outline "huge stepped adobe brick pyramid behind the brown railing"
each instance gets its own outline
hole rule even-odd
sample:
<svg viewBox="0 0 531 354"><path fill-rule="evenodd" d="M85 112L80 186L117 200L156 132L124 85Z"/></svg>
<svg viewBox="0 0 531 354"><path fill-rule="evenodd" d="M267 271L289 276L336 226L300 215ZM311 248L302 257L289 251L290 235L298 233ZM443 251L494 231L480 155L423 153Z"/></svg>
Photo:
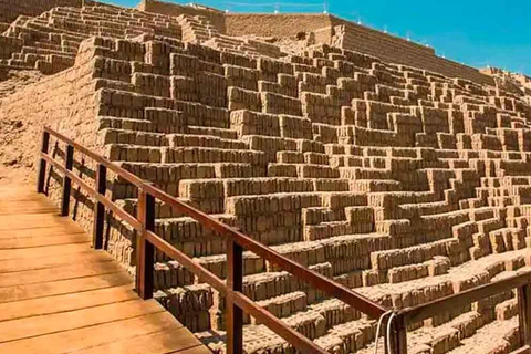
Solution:
<svg viewBox="0 0 531 354"><path fill-rule="evenodd" d="M51 125L396 309L531 267L529 77L480 72L327 14L56 6L0 1L20 14L0 37L0 122L22 126L9 131L20 158L0 154L3 164L30 174ZM94 166L79 160L93 183ZM60 184L52 176L52 195ZM135 188L114 178L111 194L136 212ZM90 230L93 201L74 196ZM165 206L156 212L158 235L226 277L220 237ZM135 235L107 221L107 250L134 271ZM156 262L157 298L222 352L223 299L163 254ZM375 320L249 252L244 273L250 299L331 353L373 353ZM410 324L409 353L509 353L517 312L506 291ZM294 353L246 321L248 353Z"/></svg>

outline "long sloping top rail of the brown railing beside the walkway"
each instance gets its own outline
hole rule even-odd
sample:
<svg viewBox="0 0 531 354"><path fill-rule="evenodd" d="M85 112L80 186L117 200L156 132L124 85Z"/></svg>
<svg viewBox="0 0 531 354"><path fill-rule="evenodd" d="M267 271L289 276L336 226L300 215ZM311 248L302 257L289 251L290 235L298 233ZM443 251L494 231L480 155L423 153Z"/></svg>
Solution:
<svg viewBox="0 0 531 354"><path fill-rule="evenodd" d="M221 236L231 238L235 242L240 244L241 247L246 248L247 250L269 260L272 263L280 266L284 271L288 271L303 281L309 282L310 284L314 285L315 288L325 291L327 294L337 298L348 305L353 306L355 310L362 311L363 313L369 315L371 317L378 319L382 314L384 314L387 309L364 295L352 291L351 289L341 285L326 277L309 270L295 261L273 251L272 249L268 248L267 246L251 239L250 237L238 232L230 227L226 226L225 223L211 218L210 216L206 215L205 212L190 207L174 196L166 194L165 191L156 188L155 186L144 181L143 179L136 177L135 175L126 171L122 167L111 163L110 160L105 159L104 157L94 154L93 152L88 150L87 148L83 147L82 145L73 142L72 139L65 137L64 135L54 132L50 127L44 127L44 131L50 133L51 135L55 136L56 138L67 143L69 145L73 146L75 149L79 149L86 156L93 158L97 163L106 166L108 169L115 171L121 177L127 179L128 181L133 183L135 186L148 192L154 198L159 199L163 202L166 202L173 208L188 215L190 218L195 219L196 221L202 223L205 227L220 233ZM158 236L157 236L158 237ZM159 238L159 237L158 237Z"/></svg>

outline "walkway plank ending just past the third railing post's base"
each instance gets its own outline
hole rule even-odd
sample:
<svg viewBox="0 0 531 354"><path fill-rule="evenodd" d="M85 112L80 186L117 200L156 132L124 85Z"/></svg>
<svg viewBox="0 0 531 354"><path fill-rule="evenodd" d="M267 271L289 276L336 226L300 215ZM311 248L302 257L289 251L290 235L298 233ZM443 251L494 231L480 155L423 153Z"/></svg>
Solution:
<svg viewBox="0 0 531 354"><path fill-rule="evenodd" d="M72 263L110 262L113 258L104 251L88 250L86 252L62 256L35 257L32 259L0 260L0 273L20 272L32 269L53 268Z"/></svg>

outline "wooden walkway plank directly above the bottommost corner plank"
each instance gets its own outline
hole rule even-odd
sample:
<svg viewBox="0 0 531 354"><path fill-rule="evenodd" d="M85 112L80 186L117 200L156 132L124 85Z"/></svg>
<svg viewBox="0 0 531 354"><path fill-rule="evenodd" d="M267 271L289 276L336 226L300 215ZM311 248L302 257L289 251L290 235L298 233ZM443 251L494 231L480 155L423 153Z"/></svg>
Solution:
<svg viewBox="0 0 531 354"><path fill-rule="evenodd" d="M175 326L180 326L177 320L167 312L160 312L142 317L2 343L0 344L0 353L71 353L138 335L163 332Z"/></svg>

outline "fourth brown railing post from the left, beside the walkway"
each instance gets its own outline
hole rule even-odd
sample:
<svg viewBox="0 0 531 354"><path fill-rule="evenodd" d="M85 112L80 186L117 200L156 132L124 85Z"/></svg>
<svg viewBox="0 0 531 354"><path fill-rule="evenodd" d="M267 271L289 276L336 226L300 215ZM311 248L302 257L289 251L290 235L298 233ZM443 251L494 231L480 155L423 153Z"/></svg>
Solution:
<svg viewBox="0 0 531 354"><path fill-rule="evenodd" d="M138 190L138 220L143 230L136 237L136 291L147 300L153 298L155 249L146 240L144 231L155 231L155 198L142 188Z"/></svg>

